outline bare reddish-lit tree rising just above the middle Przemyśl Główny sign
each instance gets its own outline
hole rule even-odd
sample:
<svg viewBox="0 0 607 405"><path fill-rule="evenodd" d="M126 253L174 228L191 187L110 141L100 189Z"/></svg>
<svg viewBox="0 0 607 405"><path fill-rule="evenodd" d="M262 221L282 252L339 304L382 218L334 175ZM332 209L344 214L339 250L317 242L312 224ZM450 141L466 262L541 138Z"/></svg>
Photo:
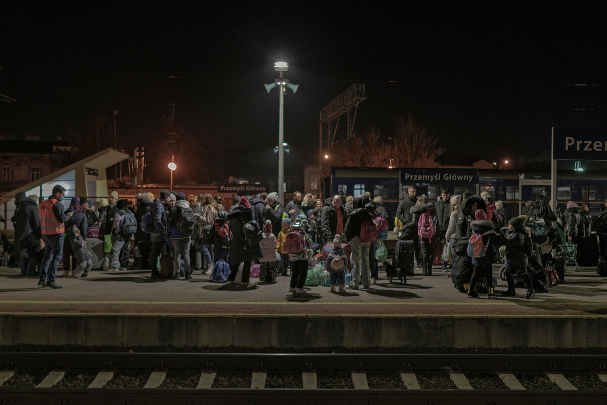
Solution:
<svg viewBox="0 0 607 405"><path fill-rule="evenodd" d="M394 165L401 168L433 168L438 166L436 158L443 153L438 138L430 134L425 126L417 123L409 114L396 118L394 124Z"/></svg>

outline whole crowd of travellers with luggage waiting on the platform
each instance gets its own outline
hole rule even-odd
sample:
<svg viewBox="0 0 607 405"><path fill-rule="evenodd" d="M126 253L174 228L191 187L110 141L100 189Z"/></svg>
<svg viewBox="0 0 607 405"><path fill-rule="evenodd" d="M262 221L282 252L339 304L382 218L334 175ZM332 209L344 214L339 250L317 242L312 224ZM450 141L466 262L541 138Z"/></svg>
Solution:
<svg viewBox="0 0 607 405"><path fill-rule="evenodd" d="M369 192L356 198L348 196L345 201L340 195L323 201L296 191L284 207L276 192L264 192L236 196L225 208L220 196L186 196L167 190L158 196L137 194L135 205L129 206L114 191L101 200L98 210L92 201L78 197L64 209L64 194L65 189L57 185L39 206L37 196L16 196L14 251L21 274L38 274L41 287L61 288L56 271L62 259L64 277L87 276L93 256L87 238L103 240L104 256L100 259L103 269L112 272L127 269L134 239L132 266L151 268L152 279L187 280L195 271L209 274L218 263L225 263L229 265L228 283L246 285L251 267L259 264L262 281L274 282L277 276L290 272L290 291L305 293L308 263L327 245L331 291L369 288L379 278L379 243L365 235L365 223L375 217L388 219L388 213L381 197L371 200ZM396 210L395 231L402 239L413 241L413 260L423 276L432 276L435 256L441 257L444 272L460 274L463 268L472 269L469 282L454 282L470 298L478 296L474 286L481 279L487 285L487 298L495 297L492 265L499 248L505 247L508 288L502 295L515 295L513 275L517 274L527 287L526 298L533 298L534 287L527 274L534 249L526 227L530 219L543 221L549 240L554 240L552 223L557 216L545 196L526 203L524 215L509 218L503 203L493 202L486 192L451 196L449 189L443 188L438 200L430 202L426 196L417 196L415 186L409 186ZM569 202L564 214L566 237L575 240L579 233L589 232L584 224L590 220L588 206ZM598 223L603 257L607 250L607 200ZM469 245L476 239L482 253L470 254ZM345 248L351 252L346 254ZM348 268L352 274L346 285Z"/></svg>

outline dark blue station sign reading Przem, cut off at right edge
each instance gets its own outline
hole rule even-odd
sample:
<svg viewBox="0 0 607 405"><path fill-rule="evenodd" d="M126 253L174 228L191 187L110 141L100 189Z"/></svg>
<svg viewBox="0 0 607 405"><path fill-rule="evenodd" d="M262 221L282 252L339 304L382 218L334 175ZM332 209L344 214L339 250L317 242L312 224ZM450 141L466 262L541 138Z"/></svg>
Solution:
<svg viewBox="0 0 607 405"><path fill-rule="evenodd" d="M607 130L554 128L553 148L557 160L607 160Z"/></svg>

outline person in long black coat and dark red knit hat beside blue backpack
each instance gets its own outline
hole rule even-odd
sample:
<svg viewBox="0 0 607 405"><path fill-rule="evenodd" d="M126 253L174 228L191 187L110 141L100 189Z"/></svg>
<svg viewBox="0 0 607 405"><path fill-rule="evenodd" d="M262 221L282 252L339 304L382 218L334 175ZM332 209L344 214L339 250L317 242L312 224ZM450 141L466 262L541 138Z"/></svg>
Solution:
<svg viewBox="0 0 607 405"><path fill-rule="evenodd" d="M232 231L229 245L229 284L234 284L242 263L242 285L246 287L249 284L251 262L261 257L259 243L249 246L245 238L244 226L250 220L253 220L253 209L246 197L240 197L239 205L228 214L229 229Z"/></svg>

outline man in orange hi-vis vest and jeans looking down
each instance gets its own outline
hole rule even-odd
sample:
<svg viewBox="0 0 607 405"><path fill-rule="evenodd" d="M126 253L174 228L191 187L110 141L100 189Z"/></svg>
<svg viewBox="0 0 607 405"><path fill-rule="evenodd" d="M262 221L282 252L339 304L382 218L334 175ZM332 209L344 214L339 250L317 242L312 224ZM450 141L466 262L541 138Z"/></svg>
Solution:
<svg viewBox="0 0 607 405"><path fill-rule="evenodd" d="M66 189L63 186L56 185L50 198L38 206L42 240L44 240L44 259L38 281L40 287L61 288L61 285L55 282L55 275L63 253L65 223L73 215L71 212L65 213L61 204L65 193Z"/></svg>

